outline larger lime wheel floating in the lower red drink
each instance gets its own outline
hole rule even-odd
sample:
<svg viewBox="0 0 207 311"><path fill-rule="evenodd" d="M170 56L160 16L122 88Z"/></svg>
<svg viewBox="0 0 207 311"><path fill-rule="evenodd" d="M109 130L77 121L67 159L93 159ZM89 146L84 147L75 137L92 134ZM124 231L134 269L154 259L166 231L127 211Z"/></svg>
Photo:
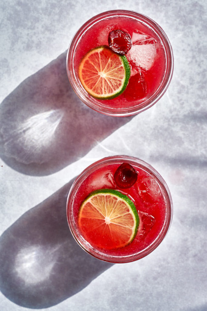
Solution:
<svg viewBox="0 0 207 311"><path fill-rule="evenodd" d="M83 201L78 223L83 238L92 246L121 248L133 241L139 216L128 196L117 190L99 189Z"/></svg>

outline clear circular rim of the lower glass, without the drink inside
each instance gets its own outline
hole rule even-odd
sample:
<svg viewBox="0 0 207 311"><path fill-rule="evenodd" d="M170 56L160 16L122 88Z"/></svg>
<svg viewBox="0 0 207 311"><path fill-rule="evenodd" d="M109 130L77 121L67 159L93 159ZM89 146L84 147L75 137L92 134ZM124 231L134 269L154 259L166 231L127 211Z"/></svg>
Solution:
<svg viewBox="0 0 207 311"><path fill-rule="evenodd" d="M75 225L74 225L74 221L73 221L73 213L70 213L70 205L72 206L72 204L71 204L72 196L77 191L77 189L79 187L79 183L82 182L83 178L85 179L89 174L91 174L93 171L95 171L98 167L104 166L104 165L106 165L106 163L109 163L109 162L110 163L117 162L118 160L123 160L123 161L127 160L127 161L129 161L129 163L132 163L132 164L134 162L136 165L138 164L141 168L143 168L145 170L147 169L151 174L153 174L159 180L159 183L162 185L162 187L165 191L165 197L166 197L166 201L167 201L166 220L165 220L164 226L163 226L162 230L160 231L160 233L158 234L157 238L155 240L153 240L153 242L150 245L148 245L146 248L144 248L143 250L141 250L135 254L125 255L125 256L107 255L107 254L101 253L100 251L96 250L92 246L89 247L88 245L90 245L90 244L86 240L84 240L83 237L81 237L81 234L78 233L78 230L75 229ZM67 204L66 204L66 215L67 215L67 222L68 222L68 226L70 228L70 232L73 235L75 241L79 244L79 246L84 251L86 251L87 253L89 253L93 257L101 259L101 260L106 261L106 262L127 263L127 262L133 262L133 261L139 260L139 259L147 256L155 248L157 248L160 245L160 243L162 242L162 240L165 238L166 234L168 233L170 226L171 226L171 223L172 223L173 202L172 202L172 197L171 197L169 188L168 188L166 182L164 181L163 177L149 163L147 163L141 159L138 159L136 157L132 157L132 156L124 156L124 155L108 156L108 157L102 158L102 159L92 163L91 165L89 165L75 179L75 181L72 184L70 191L68 193Z"/></svg>

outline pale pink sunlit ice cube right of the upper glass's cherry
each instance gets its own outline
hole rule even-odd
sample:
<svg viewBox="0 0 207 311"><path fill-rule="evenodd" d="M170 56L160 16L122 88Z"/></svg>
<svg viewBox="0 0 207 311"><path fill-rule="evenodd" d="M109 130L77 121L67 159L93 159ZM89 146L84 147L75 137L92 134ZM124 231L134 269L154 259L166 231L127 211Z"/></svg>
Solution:
<svg viewBox="0 0 207 311"><path fill-rule="evenodd" d="M156 44L134 44L127 53L129 62L134 66L149 70L156 56Z"/></svg>

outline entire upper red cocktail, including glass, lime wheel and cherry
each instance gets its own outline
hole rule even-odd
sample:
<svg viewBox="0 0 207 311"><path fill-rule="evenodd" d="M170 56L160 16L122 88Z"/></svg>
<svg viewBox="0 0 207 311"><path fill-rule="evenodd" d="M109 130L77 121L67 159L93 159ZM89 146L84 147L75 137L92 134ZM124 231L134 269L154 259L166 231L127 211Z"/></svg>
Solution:
<svg viewBox="0 0 207 311"><path fill-rule="evenodd" d="M116 40L114 46L124 45L124 37L122 38L120 33L128 36L130 46L124 53L127 65L122 64L125 78L121 76L120 80L123 79L123 85L114 86L114 77L111 76L106 81L106 84L109 83L110 87L114 87L113 92L109 90L110 87L102 87L103 65L97 66L97 59L103 55L100 53L101 47L113 48L113 44L110 45L110 36ZM99 50L96 50L97 48ZM97 52L97 59L94 61L90 55L88 62L91 67L88 65L82 76L83 60L93 53L94 49ZM108 50L105 52L107 54ZM121 64L122 56L119 56L119 50L115 49L115 52ZM110 55L107 54L105 57L110 58ZM110 58L111 67L108 68L108 72L114 70L114 58L114 55ZM172 78L173 53L169 39L158 24L142 14L116 10L93 17L78 30L68 49L66 64L70 83L85 104L103 114L127 116L151 107L162 97ZM117 67L120 67L118 62ZM84 82L86 81L86 84L87 81L92 82L95 75L99 75L101 80L94 80L89 87L85 85ZM102 89L97 90L97 83L100 84L100 81ZM99 92L98 95L96 91Z"/></svg>

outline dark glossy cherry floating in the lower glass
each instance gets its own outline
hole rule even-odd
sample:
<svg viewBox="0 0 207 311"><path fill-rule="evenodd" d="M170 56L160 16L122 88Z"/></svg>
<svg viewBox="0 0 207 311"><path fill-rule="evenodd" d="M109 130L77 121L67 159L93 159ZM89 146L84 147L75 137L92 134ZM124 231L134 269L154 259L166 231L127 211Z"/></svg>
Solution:
<svg viewBox="0 0 207 311"><path fill-rule="evenodd" d="M115 183L119 188L130 188L137 181L137 172L128 163L122 163L114 174Z"/></svg>

